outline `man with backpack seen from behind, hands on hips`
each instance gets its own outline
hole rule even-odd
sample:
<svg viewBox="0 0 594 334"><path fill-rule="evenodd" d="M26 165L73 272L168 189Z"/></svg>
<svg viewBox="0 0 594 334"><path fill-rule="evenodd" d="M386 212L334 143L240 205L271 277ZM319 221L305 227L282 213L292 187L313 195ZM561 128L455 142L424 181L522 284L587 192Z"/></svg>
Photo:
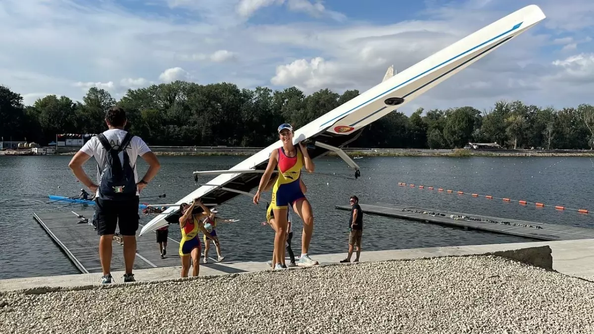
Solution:
<svg viewBox="0 0 594 334"><path fill-rule="evenodd" d="M136 256L136 231L138 230L138 198L140 191L154 178L160 169L159 160L140 138L124 130L127 123L124 109L114 106L105 115L109 130L92 137L72 157L68 164L75 177L96 193L97 234L99 259L103 269L102 283L111 283L112 240L116 225L124 238L124 282L134 282L134 259ZM97 163L95 184L83 170L91 157ZM149 170L138 179L136 160L141 156Z"/></svg>

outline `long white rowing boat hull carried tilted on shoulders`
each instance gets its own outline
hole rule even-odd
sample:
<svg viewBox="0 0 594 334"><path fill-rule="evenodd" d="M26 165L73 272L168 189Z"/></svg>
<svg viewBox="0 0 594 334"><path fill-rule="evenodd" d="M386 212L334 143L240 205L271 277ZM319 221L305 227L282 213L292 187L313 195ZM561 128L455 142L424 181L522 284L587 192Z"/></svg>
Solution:
<svg viewBox="0 0 594 334"><path fill-rule="evenodd" d="M315 140L335 147L344 147L355 140L367 125L406 105L544 19L545 14L536 5L517 10L412 67L392 77L387 75L389 78L384 78L382 83L296 130L294 144ZM261 174L245 173L245 169L266 169L270 153L281 146L282 142L276 141L230 168L229 173L221 174L207 182L208 185L192 191L176 204L190 203L194 198L202 198L204 203L220 205L239 196L239 193L223 190L222 187L250 191L259 184ZM326 155L328 150L308 146L308 153L315 158ZM164 213L166 215L156 217L147 223L140 235L175 222L179 217L179 207L170 207Z"/></svg>

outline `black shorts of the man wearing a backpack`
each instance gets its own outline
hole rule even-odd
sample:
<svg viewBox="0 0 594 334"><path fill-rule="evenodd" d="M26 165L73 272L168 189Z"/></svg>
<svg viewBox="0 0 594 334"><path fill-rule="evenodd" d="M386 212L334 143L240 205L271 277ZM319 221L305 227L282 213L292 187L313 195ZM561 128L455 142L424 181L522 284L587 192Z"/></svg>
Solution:
<svg viewBox="0 0 594 334"><path fill-rule="evenodd" d="M115 227L118 225L119 234L136 235L140 221L138 196L119 201L97 198L95 202L97 203L97 234L115 234Z"/></svg>

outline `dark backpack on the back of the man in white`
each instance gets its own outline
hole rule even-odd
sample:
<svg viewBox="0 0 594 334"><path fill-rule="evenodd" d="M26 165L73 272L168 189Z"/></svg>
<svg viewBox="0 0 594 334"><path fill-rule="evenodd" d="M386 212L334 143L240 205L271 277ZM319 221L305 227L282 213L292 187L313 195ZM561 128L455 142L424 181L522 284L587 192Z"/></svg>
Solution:
<svg viewBox="0 0 594 334"><path fill-rule="evenodd" d="M130 164L130 157L126 147L134 137L127 133L122 143L113 148L103 134L97 139L107 151L103 171L99 168L99 196L108 200L128 200L136 196L136 179L134 177L134 166ZM124 156L124 165L119 160L119 153Z"/></svg>

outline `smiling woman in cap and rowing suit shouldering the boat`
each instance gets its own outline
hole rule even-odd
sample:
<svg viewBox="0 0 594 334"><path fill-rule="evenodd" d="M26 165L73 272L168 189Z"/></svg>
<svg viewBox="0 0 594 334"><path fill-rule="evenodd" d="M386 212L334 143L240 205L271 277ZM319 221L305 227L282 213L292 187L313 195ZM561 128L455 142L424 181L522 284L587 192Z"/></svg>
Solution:
<svg viewBox="0 0 594 334"><path fill-rule="evenodd" d="M299 147L293 144L293 127L290 124L281 124L279 126L279 138L283 146L270 153L268 159L268 166L266 171L260 179L258 191L254 195L254 204L260 201L261 192L268 184L270 176L277 166L279 170L279 177L274 182L272 188L272 206L274 214L274 254L284 254L285 248L285 234L287 231L287 212L289 205L293 206L293 210L303 220L303 233L301 237L301 257L299 258L298 266L313 266L318 264L317 261L312 260L307 254L311 235L314 230L314 215L311 209L311 204L299 187L301 179L301 169L305 166L308 172L314 172L314 162L307 153L307 147L299 143ZM277 256L278 258L278 256ZM280 259L281 263L277 263L274 269L282 269L285 263L285 257Z"/></svg>

